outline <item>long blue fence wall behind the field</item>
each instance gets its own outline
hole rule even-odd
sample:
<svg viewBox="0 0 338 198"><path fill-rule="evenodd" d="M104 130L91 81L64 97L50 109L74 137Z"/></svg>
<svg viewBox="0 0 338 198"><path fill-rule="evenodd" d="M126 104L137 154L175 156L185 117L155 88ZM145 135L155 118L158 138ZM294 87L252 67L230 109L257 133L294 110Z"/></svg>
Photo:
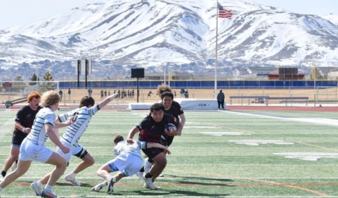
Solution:
<svg viewBox="0 0 338 198"><path fill-rule="evenodd" d="M164 81L139 80L140 88L156 89L158 85L163 84ZM172 80L170 87L172 88L213 88L214 81L207 80ZM167 82L168 84L168 82ZM60 88L77 88L78 81L60 81ZM217 81L218 88L232 89L232 88L250 88L253 87L269 87L276 89L297 87L303 89L313 89L314 87L337 87L338 81L272 81L272 80L219 80ZM87 88L133 88L137 87L137 80L112 80L112 81L87 81ZM85 82L80 81L80 88L85 88Z"/></svg>

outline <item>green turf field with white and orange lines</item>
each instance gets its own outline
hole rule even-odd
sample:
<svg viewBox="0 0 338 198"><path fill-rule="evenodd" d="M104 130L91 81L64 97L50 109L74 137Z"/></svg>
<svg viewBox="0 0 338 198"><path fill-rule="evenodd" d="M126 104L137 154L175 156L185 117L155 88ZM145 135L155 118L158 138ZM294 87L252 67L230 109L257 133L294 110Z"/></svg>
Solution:
<svg viewBox="0 0 338 198"><path fill-rule="evenodd" d="M0 111L1 167L9 153L15 114ZM155 182L161 190L146 190L143 181L133 176L116 183L112 195L106 194L107 188L90 192L103 181L96 170L113 157L112 137L126 137L146 114L98 112L81 138L95 165L78 174L81 187L60 179L53 191L67 198L338 198L337 112L185 111L187 122L182 136L175 137L170 146L165 177ZM50 140L47 147L53 147ZM78 162L73 157L66 173ZM36 197L29 184L52 169L33 163L23 177L2 191L1 198Z"/></svg>

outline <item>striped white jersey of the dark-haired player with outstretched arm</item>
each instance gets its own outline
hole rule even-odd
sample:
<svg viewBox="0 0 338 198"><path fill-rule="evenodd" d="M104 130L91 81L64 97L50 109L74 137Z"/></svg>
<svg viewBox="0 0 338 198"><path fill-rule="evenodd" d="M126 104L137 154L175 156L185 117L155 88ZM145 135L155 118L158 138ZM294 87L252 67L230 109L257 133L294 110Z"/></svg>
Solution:
<svg viewBox="0 0 338 198"><path fill-rule="evenodd" d="M70 144L75 148L78 146L81 136L84 134L91 117L98 111L98 104L88 108L83 106L75 110L69 111L65 114L59 115L60 122L66 122L68 117L74 116L72 125L66 128L65 133L62 135L63 141Z"/></svg>

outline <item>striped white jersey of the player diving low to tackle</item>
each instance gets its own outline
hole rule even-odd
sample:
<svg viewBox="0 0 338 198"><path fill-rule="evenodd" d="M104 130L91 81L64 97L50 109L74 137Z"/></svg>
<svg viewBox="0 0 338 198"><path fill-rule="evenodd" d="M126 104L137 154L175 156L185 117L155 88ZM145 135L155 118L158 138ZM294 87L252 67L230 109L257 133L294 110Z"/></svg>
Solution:
<svg viewBox="0 0 338 198"><path fill-rule="evenodd" d="M134 141L134 144L128 144L127 141L121 141L117 143L114 147L114 155L115 157L119 154L132 154L140 157L141 156L141 149L147 148L147 142L143 141Z"/></svg>

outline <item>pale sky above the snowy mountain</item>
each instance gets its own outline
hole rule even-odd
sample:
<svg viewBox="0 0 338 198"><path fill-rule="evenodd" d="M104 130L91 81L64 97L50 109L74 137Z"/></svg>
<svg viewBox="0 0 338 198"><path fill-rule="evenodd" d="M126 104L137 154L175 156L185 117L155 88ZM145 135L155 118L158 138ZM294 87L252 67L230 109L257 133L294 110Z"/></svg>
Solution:
<svg viewBox="0 0 338 198"><path fill-rule="evenodd" d="M26 25L100 0L0 0L0 29ZM226 0L219 0L219 2ZM300 14L338 14L338 0L252 0ZM46 3L48 2L48 3Z"/></svg>

